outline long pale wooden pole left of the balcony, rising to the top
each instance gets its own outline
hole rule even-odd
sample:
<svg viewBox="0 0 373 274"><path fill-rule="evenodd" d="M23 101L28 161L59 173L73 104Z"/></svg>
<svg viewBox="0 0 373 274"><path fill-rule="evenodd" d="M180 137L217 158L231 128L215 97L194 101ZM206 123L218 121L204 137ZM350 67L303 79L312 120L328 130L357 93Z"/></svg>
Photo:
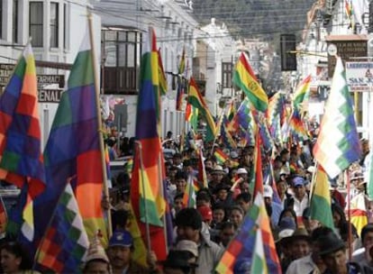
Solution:
<svg viewBox="0 0 373 274"><path fill-rule="evenodd" d="M96 93L96 113L97 113L97 126L98 126L98 140L100 144L100 152L101 152L101 165L103 170L103 182L104 182L104 193L105 197L109 199L109 189L107 186L107 174L106 174L106 162L105 162L105 146L104 146L104 136L103 136L103 122L101 118L101 108L100 108L100 87L98 86L98 79L97 79L97 67L96 67L96 52L95 52L95 42L94 42L94 32L93 32L93 25L92 25L92 14L88 12L88 27L89 27L89 41L91 44L91 52L92 52L92 64L94 69L94 83L95 83L95 93ZM110 238L113 234L112 232L112 215L110 212L110 207L106 210L107 216L107 235Z"/></svg>

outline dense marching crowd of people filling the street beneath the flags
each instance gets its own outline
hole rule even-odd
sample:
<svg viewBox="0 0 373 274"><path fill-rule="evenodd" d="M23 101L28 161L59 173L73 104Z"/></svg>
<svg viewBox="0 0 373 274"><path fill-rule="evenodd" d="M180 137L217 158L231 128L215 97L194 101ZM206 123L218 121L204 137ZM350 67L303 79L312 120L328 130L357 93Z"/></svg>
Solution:
<svg viewBox="0 0 373 274"><path fill-rule="evenodd" d="M198 172L198 152L186 149L179 153L177 142L163 144L176 151L172 158L166 159L165 187L174 226L174 241L167 260L157 260L153 251L142 254L146 257L146 265L133 258L134 239L128 229L132 214L129 205L131 174L123 171L110 192L114 233L106 250L98 236L91 242L82 265L84 273L212 273L224 250L240 232L253 202L250 172L254 165L254 147L229 151L221 144L205 144L208 186L197 185L196 205L187 207L184 195L189 176L196 176ZM365 174L368 141L361 140L361 147L361 160L350 168L350 196L346 194L343 177L330 182L334 229L310 215L310 188L315 169L312 143L279 149L272 158L276 184L266 183L263 197L283 273L373 273L373 223L369 223L370 201ZM216 150L224 151L228 158L219 162L214 157ZM117 151L123 155L123 151ZM264 153L263 170L268 167L269 160ZM274 201L275 195L279 203ZM349 221L346 214L349 200L352 203L356 196L366 203L368 224L355 225ZM28 273L25 269L32 268L27 254L16 242L5 242L0 254L5 273ZM250 273L250 260L237 261L233 270Z"/></svg>

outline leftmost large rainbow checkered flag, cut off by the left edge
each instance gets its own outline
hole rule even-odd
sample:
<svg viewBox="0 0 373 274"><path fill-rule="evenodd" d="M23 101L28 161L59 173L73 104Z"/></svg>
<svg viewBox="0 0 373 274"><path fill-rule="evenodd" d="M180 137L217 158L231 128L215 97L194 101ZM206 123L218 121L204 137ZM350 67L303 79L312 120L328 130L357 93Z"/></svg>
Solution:
<svg viewBox="0 0 373 274"><path fill-rule="evenodd" d="M0 97L0 179L21 188L24 195L14 209L14 217L10 218L8 233L22 234L27 241L32 241L33 200L44 191L46 178L41 155L36 68L30 43ZM20 228L22 233L18 233Z"/></svg>

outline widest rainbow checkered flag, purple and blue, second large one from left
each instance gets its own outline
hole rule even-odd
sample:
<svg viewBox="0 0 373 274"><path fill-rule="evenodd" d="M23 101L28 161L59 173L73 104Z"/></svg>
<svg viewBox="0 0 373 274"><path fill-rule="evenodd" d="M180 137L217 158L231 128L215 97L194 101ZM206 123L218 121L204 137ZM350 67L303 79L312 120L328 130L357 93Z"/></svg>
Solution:
<svg viewBox="0 0 373 274"><path fill-rule="evenodd" d="M59 197L71 178L74 178L71 187L74 188L86 233L93 237L100 230L103 244L107 241L101 207L106 178L97 123L101 118L97 112L99 102L96 101L94 61L86 27L86 34L68 77L68 88L59 101L44 151L47 186L41 196L33 200L35 238L29 247L32 258L37 244L45 238L50 220L59 205Z"/></svg>

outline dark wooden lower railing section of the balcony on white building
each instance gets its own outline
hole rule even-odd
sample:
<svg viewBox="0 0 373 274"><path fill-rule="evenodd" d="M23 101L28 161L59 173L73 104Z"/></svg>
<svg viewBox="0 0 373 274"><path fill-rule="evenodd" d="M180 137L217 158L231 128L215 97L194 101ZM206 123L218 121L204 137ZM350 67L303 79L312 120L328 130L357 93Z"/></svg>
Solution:
<svg viewBox="0 0 373 274"><path fill-rule="evenodd" d="M105 95L138 95L139 68L105 67L101 84Z"/></svg>

